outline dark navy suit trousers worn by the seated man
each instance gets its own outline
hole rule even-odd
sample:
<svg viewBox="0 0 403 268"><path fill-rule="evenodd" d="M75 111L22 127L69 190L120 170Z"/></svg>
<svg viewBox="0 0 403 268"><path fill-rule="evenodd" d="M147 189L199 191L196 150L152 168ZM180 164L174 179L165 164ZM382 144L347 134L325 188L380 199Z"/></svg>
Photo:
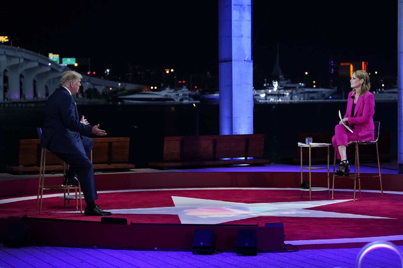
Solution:
<svg viewBox="0 0 403 268"><path fill-rule="evenodd" d="M54 153L61 160L70 165L69 172L76 174L81 184L81 190L83 190L85 203L98 199L94 169L89 160L91 149L93 147L92 139L83 137L81 140L84 145L85 154L71 154L71 153ZM69 173L68 172L68 173Z"/></svg>

